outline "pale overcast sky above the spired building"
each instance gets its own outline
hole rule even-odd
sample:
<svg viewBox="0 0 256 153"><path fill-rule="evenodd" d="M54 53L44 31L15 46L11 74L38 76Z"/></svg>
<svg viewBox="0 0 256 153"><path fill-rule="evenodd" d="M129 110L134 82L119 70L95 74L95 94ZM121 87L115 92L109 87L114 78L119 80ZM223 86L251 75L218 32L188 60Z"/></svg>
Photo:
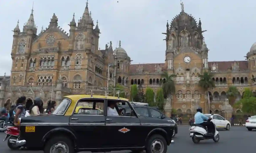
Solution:
<svg viewBox="0 0 256 153"><path fill-rule="evenodd" d="M34 1L34 19L38 26L48 27L56 14L61 28L69 33L69 22L75 13L82 16L86 0L0 0L0 75L10 75L13 32L29 19ZM118 2L117 2L118 1ZM166 21L181 12L180 0L89 0L89 11L101 30L99 47L121 40L132 63L163 63L165 59ZM209 61L238 61L256 41L256 1L183 0L184 12L201 18ZM45 28L44 28L45 29Z"/></svg>

